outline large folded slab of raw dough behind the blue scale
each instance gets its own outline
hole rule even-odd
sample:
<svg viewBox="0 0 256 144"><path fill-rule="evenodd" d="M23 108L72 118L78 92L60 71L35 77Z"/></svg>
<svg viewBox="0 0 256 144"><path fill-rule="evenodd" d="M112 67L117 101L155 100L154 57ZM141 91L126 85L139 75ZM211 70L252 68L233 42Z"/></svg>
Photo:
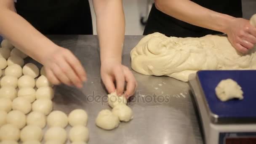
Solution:
<svg viewBox="0 0 256 144"><path fill-rule="evenodd" d="M187 82L198 70L256 69L255 48L238 53L226 36L166 37L153 33L131 51L131 67L144 75L167 75Z"/></svg>

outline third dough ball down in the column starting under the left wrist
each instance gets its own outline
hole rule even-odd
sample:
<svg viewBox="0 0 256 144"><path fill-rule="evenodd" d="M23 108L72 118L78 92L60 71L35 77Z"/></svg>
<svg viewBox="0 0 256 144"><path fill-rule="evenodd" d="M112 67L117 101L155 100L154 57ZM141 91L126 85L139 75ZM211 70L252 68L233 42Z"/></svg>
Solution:
<svg viewBox="0 0 256 144"><path fill-rule="evenodd" d="M34 88L20 88L18 91L18 97L23 97L29 102L35 101L35 89Z"/></svg>

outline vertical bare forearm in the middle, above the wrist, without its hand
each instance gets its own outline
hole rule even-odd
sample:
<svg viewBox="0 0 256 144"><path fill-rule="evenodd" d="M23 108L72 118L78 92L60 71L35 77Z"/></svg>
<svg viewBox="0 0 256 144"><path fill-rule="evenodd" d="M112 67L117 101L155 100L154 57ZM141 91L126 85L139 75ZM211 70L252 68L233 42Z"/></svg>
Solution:
<svg viewBox="0 0 256 144"><path fill-rule="evenodd" d="M94 0L96 4L97 0ZM122 61L125 19L122 0L104 0L95 5L101 62L107 59Z"/></svg>

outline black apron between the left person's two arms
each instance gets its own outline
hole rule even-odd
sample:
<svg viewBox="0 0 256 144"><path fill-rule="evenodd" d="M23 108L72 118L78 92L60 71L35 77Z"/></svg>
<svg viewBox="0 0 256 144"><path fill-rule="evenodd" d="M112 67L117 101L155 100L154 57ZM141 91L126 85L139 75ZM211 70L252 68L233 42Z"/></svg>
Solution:
<svg viewBox="0 0 256 144"><path fill-rule="evenodd" d="M17 0L16 11L44 35L92 35L88 0Z"/></svg>

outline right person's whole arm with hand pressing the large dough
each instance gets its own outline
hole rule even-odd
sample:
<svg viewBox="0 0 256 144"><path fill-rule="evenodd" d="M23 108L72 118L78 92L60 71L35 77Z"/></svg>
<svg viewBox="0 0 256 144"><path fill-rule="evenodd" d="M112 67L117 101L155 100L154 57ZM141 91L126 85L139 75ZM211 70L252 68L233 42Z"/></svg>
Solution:
<svg viewBox="0 0 256 144"><path fill-rule="evenodd" d="M176 19L226 33L232 45L247 52L256 43L256 28L248 20L204 8L190 0L155 0L156 8Z"/></svg>

